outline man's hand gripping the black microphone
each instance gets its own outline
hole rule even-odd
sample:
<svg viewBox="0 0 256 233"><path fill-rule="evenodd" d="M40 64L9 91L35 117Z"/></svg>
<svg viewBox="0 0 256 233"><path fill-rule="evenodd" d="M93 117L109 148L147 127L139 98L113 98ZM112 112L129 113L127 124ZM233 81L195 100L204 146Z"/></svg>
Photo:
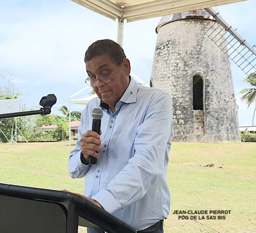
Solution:
<svg viewBox="0 0 256 233"><path fill-rule="evenodd" d="M101 134L101 132L100 132ZM101 151L100 145L101 141L99 139L99 135L97 132L92 130L88 130L80 139L82 153L84 155L84 159L86 163L89 163L89 156L92 155L93 157L99 157L98 152Z"/></svg>

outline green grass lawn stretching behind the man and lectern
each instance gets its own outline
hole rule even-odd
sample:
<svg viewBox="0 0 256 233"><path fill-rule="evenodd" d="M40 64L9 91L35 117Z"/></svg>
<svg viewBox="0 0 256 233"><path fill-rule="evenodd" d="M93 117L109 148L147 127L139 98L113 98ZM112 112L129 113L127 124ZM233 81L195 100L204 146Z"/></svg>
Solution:
<svg viewBox="0 0 256 233"><path fill-rule="evenodd" d="M0 183L83 193L84 179L68 174L73 147L74 142L0 144ZM256 232L255 142L173 142L167 180L172 204L165 233ZM179 219L182 214L173 214L175 210L208 214L184 214L189 219ZM230 214L209 214L210 210Z"/></svg>

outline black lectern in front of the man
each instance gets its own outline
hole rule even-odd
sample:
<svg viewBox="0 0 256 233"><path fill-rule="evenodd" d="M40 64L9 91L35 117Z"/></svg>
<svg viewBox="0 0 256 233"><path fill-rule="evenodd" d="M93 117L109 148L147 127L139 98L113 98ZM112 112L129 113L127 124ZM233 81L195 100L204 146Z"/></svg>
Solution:
<svg viewBox="0 0 256 233"><path fill-rule="evenodd" d="M136 233L82 196L0 183L1 233L77 233L78 225L108 233Z"/></svg>

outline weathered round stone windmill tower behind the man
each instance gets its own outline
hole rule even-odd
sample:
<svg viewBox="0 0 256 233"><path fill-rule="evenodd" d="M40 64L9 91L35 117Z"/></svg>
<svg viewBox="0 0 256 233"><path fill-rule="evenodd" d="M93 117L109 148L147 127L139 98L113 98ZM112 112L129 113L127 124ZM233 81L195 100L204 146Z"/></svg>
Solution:
<svg viewBox="0 0 256 233"><path fill-rule="evenodd" d="M172 96L174 141L241 141L227 42L216 23L200 9L163 16L156 28L150 85Z"/></svg>

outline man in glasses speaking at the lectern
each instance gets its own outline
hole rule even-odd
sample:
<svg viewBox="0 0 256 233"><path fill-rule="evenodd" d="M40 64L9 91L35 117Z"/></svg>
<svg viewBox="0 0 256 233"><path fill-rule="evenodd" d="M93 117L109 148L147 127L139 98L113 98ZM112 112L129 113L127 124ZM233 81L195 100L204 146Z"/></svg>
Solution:
<svg viewBox="0 0 256 233"><path fill-rule="evenodd" d="M85 177L84 196L138 232L163 233L170 209L166 172L173 137L171 97L135 82L129 59L114 41L95 41L84 61L86 82L98 98L81 115L69 157L70 176ZM100 133L92 130L95 109L103 113Z"/></svg>

